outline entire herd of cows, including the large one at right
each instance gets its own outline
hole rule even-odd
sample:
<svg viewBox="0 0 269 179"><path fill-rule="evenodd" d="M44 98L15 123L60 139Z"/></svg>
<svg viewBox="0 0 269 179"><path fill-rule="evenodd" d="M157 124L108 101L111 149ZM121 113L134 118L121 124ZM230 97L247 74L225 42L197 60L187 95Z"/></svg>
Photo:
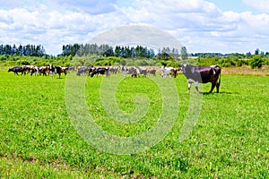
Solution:
<svg viewBox="0 0 269 179"><path fill-rule="evenodd" d="M145 67L134 67L134 66L110 66L110 67L87 67L87 66L78 66L78 67L62 67L62 66L54 66L49 64L48 66L15 66L10 68L8 72L14 72L14 74L18 75L18 72L21 74L30 74L30 75L50 75L52 77L55 74L58 74L59 78L61 78L61 73L67 74L69 71L76 71L77 76L89 75L93 77L94 75L100 76L100 74L104 74L107 77L110 74L116 74L117 72L122 72L125 76L130 74L131 77L139 77L143 75L146 77L149 74L156 76L157 70L154 68L145 68ZM209 91L210 93L216 87L217 93L219 92L220 84L221 84L221 68L218 65L212 66L193 66L191 64L182 64L180 68L173 67L160 67L161 77L167 78L170 76L177 77L178 72L183 72L183 74L187 78L188 82L188 93L190 92L190 88L192 83L195 83L195 90L199 93L198 83L212 83L212 88Z"/></svg>

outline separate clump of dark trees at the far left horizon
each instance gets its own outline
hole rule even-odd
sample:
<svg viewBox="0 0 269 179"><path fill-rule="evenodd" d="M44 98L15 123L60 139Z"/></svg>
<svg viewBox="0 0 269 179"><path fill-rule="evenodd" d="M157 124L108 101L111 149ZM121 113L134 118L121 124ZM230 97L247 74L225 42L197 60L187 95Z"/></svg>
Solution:
<svg viewBox="0 0 269 179"><path fill-rule="evenodd" d="M29 56L43 56L46 55L45 48L41 45L26 45L16 47L16 45L0 45L0 55L29 55Z"/></svg>

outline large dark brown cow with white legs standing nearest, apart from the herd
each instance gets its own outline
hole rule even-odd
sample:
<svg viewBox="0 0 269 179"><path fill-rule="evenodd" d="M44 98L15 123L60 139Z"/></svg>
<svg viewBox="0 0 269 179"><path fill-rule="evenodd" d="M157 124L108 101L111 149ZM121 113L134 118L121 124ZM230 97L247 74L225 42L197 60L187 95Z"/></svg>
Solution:
<svg viewBox="0 0 269 179"><path fill-rule="evenodd" d="M199 93L198 83L207 83L207 82L212 83L211 90L209 91L209 93L211 93L215 87L217 89L217 93L219 93L219 88L221 85L220 66L218 65L193 66L191 64L182 64L182 72L187 78L188 93L190 93L190 88L193 82L195 82L195 89L197 93Z"/></svg>

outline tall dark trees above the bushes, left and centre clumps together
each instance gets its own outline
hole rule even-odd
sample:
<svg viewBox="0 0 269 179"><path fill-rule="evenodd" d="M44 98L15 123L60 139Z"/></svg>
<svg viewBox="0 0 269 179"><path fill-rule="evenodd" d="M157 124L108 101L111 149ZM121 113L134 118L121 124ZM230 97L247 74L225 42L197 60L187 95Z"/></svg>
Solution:
<svg viewBox="0 0 269 179"><path fill-rule="evenodd" d="M155 54L157 53L157 55ZM41 45L26 45L26 46L16 46L16 45L0 45L0 55L25 55L25 56L43 56L47 55L46 50ZM136 46L136 47L111 47L107 44L102 44L98 46L97 44L68 44L64 45L62 48L63 56L89 56L89 55L102 55L102 56L115 56L123 58L153 58L157 59L178 59L179 52L178 49L169 47L163 47L159 49L158 52L155 52L152 48ZM181 47L181 57L187 58L187 48Z"/></svg>

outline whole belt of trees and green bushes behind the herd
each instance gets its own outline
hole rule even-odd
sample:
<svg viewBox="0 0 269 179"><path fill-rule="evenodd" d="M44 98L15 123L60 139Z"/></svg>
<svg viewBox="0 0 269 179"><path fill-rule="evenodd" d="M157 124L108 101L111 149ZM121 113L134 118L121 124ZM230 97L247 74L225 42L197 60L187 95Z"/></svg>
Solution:
<svg viewBox="0 0 269 179"><path fill-rule="evenodd" d="M155 55L155 53L157 55ZM179 54L180 53L180 54ZM74 60L77 59L77 60ZM0 65L168 65L178 66L182 62L194 61L197 65L218 64L221 66L250 65L259 68L269 64L269 52L256 48L254 54L226 54L221 53L196 53L188 54L187 47L169 49L163 47L159 51L152 48L136 47L110 47L97 44L64 45L60 55L46 55L41 45L0 45Z"/></svg>

